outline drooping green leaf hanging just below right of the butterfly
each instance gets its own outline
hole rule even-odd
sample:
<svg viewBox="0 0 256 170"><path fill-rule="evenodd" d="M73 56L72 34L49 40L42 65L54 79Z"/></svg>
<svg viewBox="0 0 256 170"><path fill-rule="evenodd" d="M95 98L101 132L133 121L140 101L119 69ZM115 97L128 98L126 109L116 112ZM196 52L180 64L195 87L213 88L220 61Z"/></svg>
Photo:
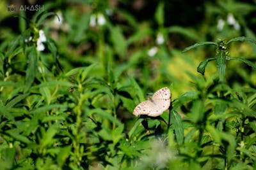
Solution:
<svg viewBox="0 0 256 170"><path fill-rule="evenodd" d="M182 118L179 113L175 110L171 111L171 122L173 124L173 129L176 135L177 143L181 145L184 139L184 127L182 124Z"/></svg>

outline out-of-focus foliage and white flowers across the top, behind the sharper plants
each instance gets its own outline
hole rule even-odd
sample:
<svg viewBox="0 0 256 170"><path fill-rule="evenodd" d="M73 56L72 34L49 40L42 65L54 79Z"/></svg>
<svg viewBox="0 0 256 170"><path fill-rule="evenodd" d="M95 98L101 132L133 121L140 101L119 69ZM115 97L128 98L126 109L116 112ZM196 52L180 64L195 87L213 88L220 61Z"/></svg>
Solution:
<svg viewBox="0 0 256 170"><path fill-rule="evenodd" d="M193 76L200 76L196 67L216 54L214 46L182 53L186 46L238 36L256 39L253 0L2 0L1 51L10 39L29 27L24 18L31 20L38 11L52 11L59 17L45 18L38 29L56 43L64 73L99 63L92 74L106 76L110 64L120 71L118 81L132 76L147 91L173 83L173 97L193 89ZM234 43L229 50L230 57L256 61L256 48L250 43ZM47 48L41 55L51 60ZM226 76L231 86L238 83L256 87L256 74L250 67L236 61L227 64ZM216 74L214 62L207 66L205 78L212 74Z"/></svg>

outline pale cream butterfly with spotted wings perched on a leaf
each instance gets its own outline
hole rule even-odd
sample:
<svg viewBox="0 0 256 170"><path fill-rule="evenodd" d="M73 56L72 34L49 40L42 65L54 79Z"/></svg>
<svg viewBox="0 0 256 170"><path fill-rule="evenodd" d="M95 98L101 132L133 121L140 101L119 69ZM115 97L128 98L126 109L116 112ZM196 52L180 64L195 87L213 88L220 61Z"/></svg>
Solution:
<svg viewBox="0 0 256 170"><path fill-rule="evenodd" d="M151 99L138 104L133 110L133 115L148 115L157 117L168 110L171 101L171 92L168 87L164 87L154 93Z"/></svg>

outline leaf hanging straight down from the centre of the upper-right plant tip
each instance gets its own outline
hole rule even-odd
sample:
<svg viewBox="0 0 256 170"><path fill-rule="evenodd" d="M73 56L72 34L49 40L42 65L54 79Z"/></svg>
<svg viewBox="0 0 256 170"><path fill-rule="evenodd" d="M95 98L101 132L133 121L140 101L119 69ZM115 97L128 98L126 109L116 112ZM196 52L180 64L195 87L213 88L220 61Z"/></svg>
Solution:
<svg viewBox="0 0 256 170"><path fill-rule="evenodd" d="M226 69L226 54L223 50L221 50L217 54L216 58L216 66L219 72L220 81L224 81L225 69Z"/></svg>

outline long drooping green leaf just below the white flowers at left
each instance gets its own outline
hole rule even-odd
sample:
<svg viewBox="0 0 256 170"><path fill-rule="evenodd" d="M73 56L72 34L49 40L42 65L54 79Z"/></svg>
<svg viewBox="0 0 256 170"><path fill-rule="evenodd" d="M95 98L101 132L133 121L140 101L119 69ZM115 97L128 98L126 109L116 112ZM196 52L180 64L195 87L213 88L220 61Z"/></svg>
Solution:
<svg viewBox="0 0 256 170"><path fill-rule="evenodd" d="M37 67L36 48L31 48L31 51L28 54L28 68L26 70L26 80L25 80L26 87L24 89L24 92L28 92L32 83L34 82L36 67Z"/></svg>

